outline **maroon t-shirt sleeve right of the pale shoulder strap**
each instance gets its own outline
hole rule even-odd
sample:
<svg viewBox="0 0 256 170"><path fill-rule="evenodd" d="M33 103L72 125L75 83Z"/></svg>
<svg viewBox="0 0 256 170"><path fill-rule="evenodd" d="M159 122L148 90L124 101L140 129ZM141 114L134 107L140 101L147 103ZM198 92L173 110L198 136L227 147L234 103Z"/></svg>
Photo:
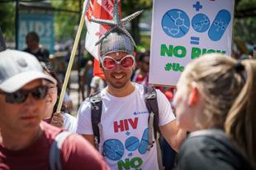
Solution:
<svg viewBox="0 0 256 170"><path fill-rule="evenodd" d="M102 155L87 140L76 134L70 135L64 140L61 160L64 170L109 169Z"/></svg>

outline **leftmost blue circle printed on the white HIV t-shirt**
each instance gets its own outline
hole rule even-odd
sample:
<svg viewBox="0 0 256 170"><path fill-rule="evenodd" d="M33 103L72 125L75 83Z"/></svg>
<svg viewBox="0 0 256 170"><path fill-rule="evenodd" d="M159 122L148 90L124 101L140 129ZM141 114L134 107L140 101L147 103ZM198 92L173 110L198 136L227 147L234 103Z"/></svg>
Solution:
<svg viewBox="0 0 256 170"><path fill-rule="evenodd" d="M119 160L125 151L124 145L120 140L106 140L103 144L103 154L107 159Z"/></svg>

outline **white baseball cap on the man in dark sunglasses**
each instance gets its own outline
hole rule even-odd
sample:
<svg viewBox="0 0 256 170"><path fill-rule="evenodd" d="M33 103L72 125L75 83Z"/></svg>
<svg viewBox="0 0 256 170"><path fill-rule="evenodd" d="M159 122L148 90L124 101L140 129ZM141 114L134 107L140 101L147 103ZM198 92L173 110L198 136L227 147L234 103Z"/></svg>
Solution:
<svg viewBox="0 0 256 170"><path fill-rule="evenodd" d="M0 53L0 90L12 93L36 79L56 84L56 80L44 73L40 62L30 53L11 49Z"/></svg>

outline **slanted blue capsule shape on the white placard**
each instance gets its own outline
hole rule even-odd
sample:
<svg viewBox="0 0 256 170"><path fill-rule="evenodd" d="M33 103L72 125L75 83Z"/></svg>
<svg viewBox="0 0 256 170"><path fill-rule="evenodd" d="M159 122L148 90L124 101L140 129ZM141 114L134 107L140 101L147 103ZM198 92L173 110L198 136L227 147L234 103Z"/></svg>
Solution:
<svg viewBox="0 0 256 170"><path fill-rule="evenodd" d="M213 41L221 39L227 26L230 24L231 15L229 11L221 10L217 13L215 20L211 24L208 36Z"/></svg>

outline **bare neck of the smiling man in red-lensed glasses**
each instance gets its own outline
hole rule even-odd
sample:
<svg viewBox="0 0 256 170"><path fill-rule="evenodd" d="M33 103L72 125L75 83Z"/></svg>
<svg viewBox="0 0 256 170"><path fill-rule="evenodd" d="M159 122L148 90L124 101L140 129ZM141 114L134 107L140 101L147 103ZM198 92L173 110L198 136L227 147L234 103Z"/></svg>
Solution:
<svg viewBox="0 0 256 170"><path fill-rule="evenodd" d="M113 88L107 85L107 92L115 97L126 97L135 90L135 85L132 82L128 82L123 88Z"/></svg>

